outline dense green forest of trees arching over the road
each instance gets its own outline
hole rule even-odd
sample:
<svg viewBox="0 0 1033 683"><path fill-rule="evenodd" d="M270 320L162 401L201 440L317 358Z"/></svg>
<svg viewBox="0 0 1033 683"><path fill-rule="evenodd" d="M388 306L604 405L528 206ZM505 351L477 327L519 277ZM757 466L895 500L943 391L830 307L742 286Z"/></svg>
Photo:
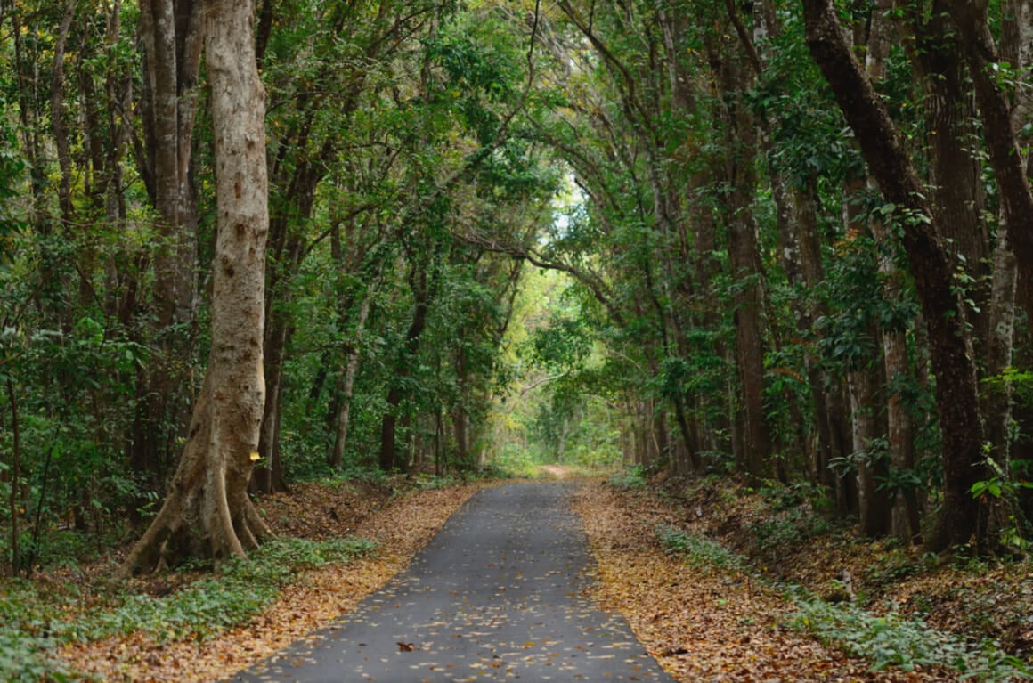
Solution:
<svg viewBox="0 0 1033 683"><path fill-rule="evenodd" d="M1033 3L221 4L0 3L6 572L535 462L1026 549Z"/></svg>

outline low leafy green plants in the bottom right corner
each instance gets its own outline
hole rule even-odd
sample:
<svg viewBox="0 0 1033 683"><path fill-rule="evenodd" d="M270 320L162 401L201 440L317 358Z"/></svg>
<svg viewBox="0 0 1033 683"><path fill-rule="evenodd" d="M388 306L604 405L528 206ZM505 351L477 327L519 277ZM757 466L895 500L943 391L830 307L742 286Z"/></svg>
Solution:
<svg viewBox="0 0 1033 683"><path fill-rule="evenodd" d="M805 595L793 599L799 612L790 618L792 626L851 656L869 659L876 670L940 666L980 681L1033 676L1022 659L1005 654L993 642L973 645L895 612L876 616L848 603L829 604Z"/></svg>

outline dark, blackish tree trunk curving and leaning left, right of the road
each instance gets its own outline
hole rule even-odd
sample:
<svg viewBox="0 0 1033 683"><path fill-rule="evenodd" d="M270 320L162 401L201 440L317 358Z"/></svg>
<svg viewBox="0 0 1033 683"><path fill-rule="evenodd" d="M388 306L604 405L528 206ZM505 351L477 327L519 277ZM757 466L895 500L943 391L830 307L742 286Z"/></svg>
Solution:
<svg viewBox="0 0 1033 683"><path fill-rule="evenodd" d="M926 540L930 551L970 540L978 503L970 493L987 478L982 459L976 375L964 311L952 290L953 272L942 240L932 223L926 188L911 164L879 95L843 37L829 0L804 0L807 43L853 129L902 241L929 332L936 375L937 412L943 435L943 505Z"/></svg>

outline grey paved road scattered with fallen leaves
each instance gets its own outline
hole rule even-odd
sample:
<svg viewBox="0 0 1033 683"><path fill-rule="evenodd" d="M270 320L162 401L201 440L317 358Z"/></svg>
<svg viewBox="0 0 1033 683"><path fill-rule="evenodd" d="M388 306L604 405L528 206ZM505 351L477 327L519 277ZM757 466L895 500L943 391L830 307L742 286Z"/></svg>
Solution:
<svg viewBox="0 0 1033 683"><path fill-rule="evenodd" d="M473 498L340 623L232 681L660 681L627 623L585 591L592 560L566 484Z"/></svg>

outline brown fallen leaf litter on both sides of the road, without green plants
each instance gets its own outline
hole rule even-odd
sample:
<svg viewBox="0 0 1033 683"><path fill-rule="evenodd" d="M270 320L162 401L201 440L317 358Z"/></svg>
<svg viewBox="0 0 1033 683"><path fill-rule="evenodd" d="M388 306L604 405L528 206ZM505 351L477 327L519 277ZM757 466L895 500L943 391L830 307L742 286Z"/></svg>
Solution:
<svg viewBox="0 0 1033 683"><path fill-rule="evenodd" d="M97 680L225 678L353 609L404 568L447 519L487 486L491 484L459 483L444 489L409 487L394 493L395 485L306 484L289 495L264 498L262 508L283 536L354 535L376 540L379 551L346 564L306 571L283 588L260 616L204 642L158 642L128 633L72 644L63 648L62 655L74 670ZM921 666L911 672L872 671L871 661L850 658L838 647L788 625L795 607L768 580L800 581L820 590L835 584L833 578L844 566L858 578L874 576L873 567L891 573L899 567L885 560L880 541L833 530L780 544L780 550L761 544L757 552L756 530L770 522L771 515L758 505L755 495L700 486L689 494L671 495L676 489L667 486L662 493L656 488L619 490L590 480L581 483L574 499L597 562L600 581L592 589L593 597L603 609L621 613L676 679L765 683L958 678L952 672ZM686 528L743 553L748 561L701 564L665 552L658 530ZM868 589L878 592L880 599L899 600L904 608L926 602L929 618L947 628L971 621L973 611L967 608L973 596L984 596L980 604L991 612L1009 603L1009 611L998 612L1019 624L1012 630L1019 630L1014 642L1021 644L1023 638L1033 635L1027 632L1033 622L1023 607L1030 599L1019 600L1016 595L1030 598L1033 590L1022 588L1029 587L1028 575L1019 580L1013 575L1014 570L1001 567L988 567L981 573L945 568L907 581L895 575L883 584L870 582ZM135 580L134 588L161 595L201 577L200 572L164 572ZM399 647L408 645L400 643Z"/></svg>

